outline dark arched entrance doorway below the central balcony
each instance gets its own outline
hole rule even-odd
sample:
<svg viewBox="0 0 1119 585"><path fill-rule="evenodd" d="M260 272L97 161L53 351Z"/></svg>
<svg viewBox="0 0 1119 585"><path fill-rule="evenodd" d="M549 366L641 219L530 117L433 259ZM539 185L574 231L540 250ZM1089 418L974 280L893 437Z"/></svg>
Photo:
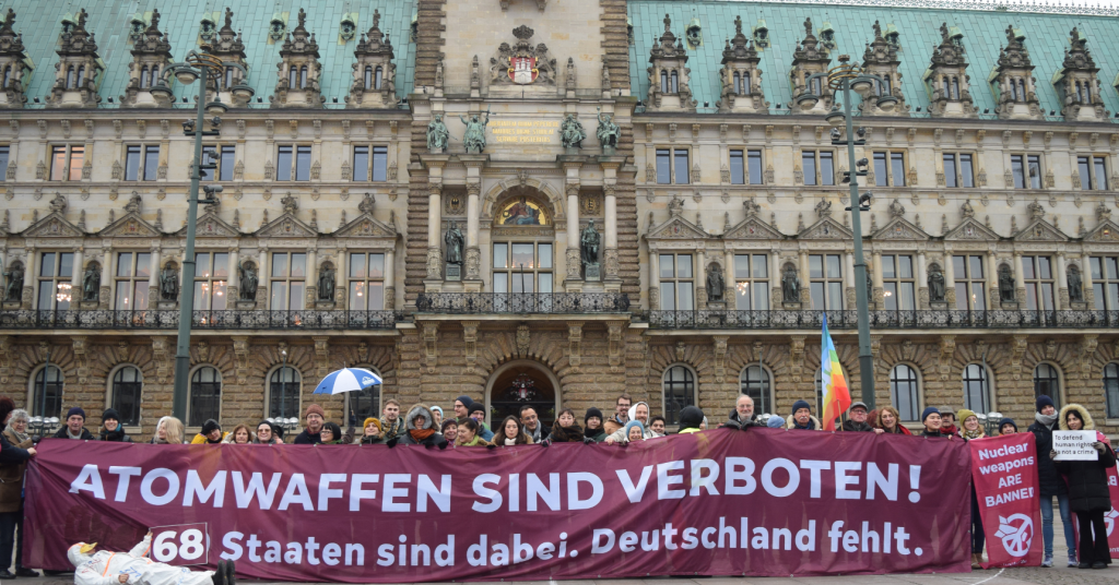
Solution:
<svg viewBox="0 0 1119 585"><path fill-rule="evenodd" d="M510 361L493 371L486 387L490 426L506 416L520 416L520 408L532 406L545 428L552 428L560 408L555 376L537 361Z"/></svg>

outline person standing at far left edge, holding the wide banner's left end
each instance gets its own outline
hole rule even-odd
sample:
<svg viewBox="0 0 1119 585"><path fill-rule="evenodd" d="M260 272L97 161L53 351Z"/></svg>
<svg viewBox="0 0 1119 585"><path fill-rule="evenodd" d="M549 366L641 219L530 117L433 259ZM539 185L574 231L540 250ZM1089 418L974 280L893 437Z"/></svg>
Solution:
<svg viewBox="0 0 1119 585"><path fill-rule="evenodd" d="M35 442L27 434L30 422L27 411L16 409L16 403L0 397L0 422L8 426L0 434L0 579L38 577L25 567L23 558L23 472L36 455ZM17 531L19 541L16 540ZM16 551L16 574L8 572Z"/></svg>

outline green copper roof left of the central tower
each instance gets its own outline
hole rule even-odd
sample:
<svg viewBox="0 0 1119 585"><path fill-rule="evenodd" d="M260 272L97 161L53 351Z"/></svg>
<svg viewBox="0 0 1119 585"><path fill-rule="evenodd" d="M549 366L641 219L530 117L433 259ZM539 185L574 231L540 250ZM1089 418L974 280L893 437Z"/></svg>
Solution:
<svg viewBox="0 0 1119 585"><path fill-rule="evenodd" d="M160 2L141 0L139 2L81 2L68 0L16 0L6 2L8 8L16 10L16 30L22 32L28 56L35 63L35 72L27 86L27 107L43 107L36 104L35 97L43 102L55 81L55 65L58 55L55 49L62 32L62 20L67 13L77 15L85 8L90 13L86 30L93 32L97 43L97 53L105 64L105 72L98 81L98 92L102 96L101 107L117 107L119 97L128 85L129 63L132 55L132 44L129 40L130 25L133 15L140 12L145 20L150 19L152 8L160 11L160 30L171 43L171 55L181 60L187 51L198 48L199 22L206 13L216 22L217 28L224 25L225 7L233 9L233 28L242 32L245 54L248 62L248 85L255 91L253 98L255 107L267 107L269 96L274 93L276 84L276 64L280 63L280 47L283 41L272 41L269 38L269 21L273 15L280 13L288 21L288 30L295 28L299 9L307 10L307 29L314 32L319 44L319 55L322 63L321 87L327 98L327 107L345 107L345 97L352 82L355 63L354 49L361 37L373 26L374 9L380 11L380 30L389 35L393 43L396 63L396 93L407 95L412 89L413 69L415 67L415 45L408 43L412 16L415 13L414 0L316 0L300 3L294 0L270 2L263 0L177 0ZM339 37L340 23L346 13L357 23L357 32L349 41ZM76 18L76 17L75 17ZM195 95L181 84L172 87L177 101L182 102L184 95ZM197 89L195 89L197 91ZM113 103L109 103L109 98ZM262 103L256 103L256 97ZM338 98L338 104L333 98Z"/></svg>

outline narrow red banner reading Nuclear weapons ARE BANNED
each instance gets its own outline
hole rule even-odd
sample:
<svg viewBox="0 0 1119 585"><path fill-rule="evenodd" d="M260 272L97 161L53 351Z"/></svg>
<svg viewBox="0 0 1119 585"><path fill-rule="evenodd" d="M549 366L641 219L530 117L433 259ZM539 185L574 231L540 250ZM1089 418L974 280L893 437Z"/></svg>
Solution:
<svg viewBox="0 0 1119 585"><path fill-rule="evenodd" d="M1042 522L1033 433L977 438L968 446L987 537L984 568L1041 566L1045 553L1038 538Z"/></svg>

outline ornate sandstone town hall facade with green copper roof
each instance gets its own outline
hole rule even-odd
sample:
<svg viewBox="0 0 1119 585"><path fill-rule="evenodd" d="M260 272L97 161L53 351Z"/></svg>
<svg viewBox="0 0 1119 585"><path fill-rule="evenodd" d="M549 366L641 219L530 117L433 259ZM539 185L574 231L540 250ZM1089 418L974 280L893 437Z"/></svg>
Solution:
<svg viewBox="0 0 1119 585"><path fill-rule="evenodd" d="M906 422L1025 423L1047 394L1119 432L1113 13L285 0L254 27L252 2L149 3L0 26L0 391L32 414L113 406L150 435L191 286L188 427L461 394L498 418L622 391L669 424L741 393L788 414L818 396L827 312L850 387L874 376ZM224 191L187 282L198 88L167 72L203 47L247 73L206 92ZM812 78L841 54L885 79L853 104L857 236ZM342 366L384 384L310 394Z"/></svg>

